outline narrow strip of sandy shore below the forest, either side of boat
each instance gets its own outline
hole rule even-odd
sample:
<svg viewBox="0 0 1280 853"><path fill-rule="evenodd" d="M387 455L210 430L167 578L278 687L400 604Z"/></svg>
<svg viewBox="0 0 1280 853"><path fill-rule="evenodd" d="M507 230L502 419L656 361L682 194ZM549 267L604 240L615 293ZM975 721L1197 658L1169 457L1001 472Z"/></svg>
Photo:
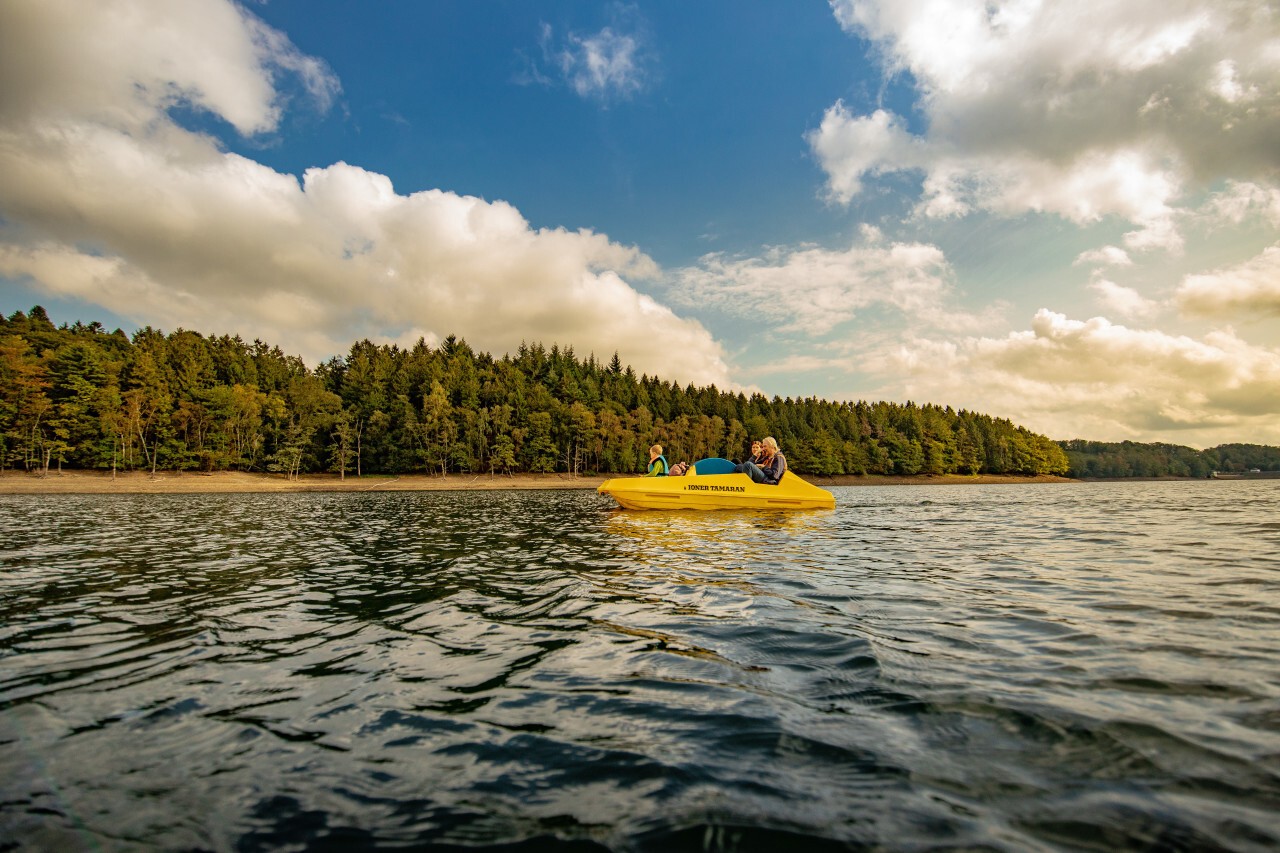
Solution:
<svg viewBox="0 0 1280 853"><path fill-rule="evenodd" d="M187 494L237 492L445 492L513 489L594 489L609 476L568 474L499 474L430 476L426 474L366 475L338 479L337 474L305 474L291 480L282 474L242 471L49 471L47 476L9 470L0 475L0 494ZM992 483L1075 483L1062 476L808 476L814 485L952 485Z"/></svg>

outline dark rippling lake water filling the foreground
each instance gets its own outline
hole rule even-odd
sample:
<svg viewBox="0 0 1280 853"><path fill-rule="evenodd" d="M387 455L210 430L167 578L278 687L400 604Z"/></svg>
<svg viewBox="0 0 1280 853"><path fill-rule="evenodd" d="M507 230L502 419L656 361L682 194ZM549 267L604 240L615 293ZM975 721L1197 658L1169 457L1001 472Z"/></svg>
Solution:
<svg viewBox="0 0 1280 853"><path fill-rule="evenodd" d="M0 497L0 850L1275 850L1280 480Z"/></svg>

